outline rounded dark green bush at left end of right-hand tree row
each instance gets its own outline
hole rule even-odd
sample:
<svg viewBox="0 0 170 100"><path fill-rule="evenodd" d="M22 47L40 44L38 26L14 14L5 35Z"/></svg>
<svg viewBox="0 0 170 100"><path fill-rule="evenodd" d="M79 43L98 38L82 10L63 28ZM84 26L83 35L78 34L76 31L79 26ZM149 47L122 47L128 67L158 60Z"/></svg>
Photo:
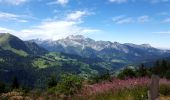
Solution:
<svg viewBox="0 0 170 100"><path fill-rule="evenodd" d="M118 74L118 78L120 79L126 79L126 78L134 78L136 77L136 71L132 68L125 68Z"/></svg>

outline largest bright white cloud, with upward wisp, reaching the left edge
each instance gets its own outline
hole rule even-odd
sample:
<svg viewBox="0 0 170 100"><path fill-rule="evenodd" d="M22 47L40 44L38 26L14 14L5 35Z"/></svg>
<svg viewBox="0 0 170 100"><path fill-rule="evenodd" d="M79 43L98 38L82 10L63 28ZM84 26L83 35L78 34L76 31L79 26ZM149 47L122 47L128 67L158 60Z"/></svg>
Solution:
<svg viewBox="0 0 170 100"><path fill-rule="evenodd" d="M77 12L77 11L75 11ZM39 25L33 26L29 29L23 30L10 30L7 28L0 29L0 32L9 32L14 35L20 37L21 39L28 40L33 38L41 38L41 39L53 39L57 40L68 35L77 35L77 34L90 34L90 33L98 33L100 30L82 27L80 26L83 21L79 21L79 19L83 16L73 17L68 20L68 14L62 20L44 20ZM79 15L79 14L78 14Z"/></svg>

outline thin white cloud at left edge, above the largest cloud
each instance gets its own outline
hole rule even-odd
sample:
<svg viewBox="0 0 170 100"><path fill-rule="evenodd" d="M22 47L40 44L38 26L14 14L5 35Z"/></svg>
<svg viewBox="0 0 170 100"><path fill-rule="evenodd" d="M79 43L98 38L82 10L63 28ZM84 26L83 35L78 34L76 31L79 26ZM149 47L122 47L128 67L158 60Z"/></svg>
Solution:
<svg viewBox="0 0 170 100"><path fill-rule="evenodd" d="M25 15L16 15L13 13L7 13L7 12L0 12L0 21L17 21L17 22L28 22L25 19Z"/></svg>

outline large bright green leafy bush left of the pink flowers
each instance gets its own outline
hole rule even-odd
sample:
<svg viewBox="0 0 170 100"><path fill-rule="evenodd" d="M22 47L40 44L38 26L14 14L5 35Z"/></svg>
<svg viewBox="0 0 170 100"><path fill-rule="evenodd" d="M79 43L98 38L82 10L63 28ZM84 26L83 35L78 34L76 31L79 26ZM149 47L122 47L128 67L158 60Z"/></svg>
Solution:
<svg viewBox="0 0 170 100"><path fill-rule="evenodd" d="M65 95L73 95L82 88L82 78L73 74L63 74L61 80L56 86L56 90L59 93Z"/></svg>

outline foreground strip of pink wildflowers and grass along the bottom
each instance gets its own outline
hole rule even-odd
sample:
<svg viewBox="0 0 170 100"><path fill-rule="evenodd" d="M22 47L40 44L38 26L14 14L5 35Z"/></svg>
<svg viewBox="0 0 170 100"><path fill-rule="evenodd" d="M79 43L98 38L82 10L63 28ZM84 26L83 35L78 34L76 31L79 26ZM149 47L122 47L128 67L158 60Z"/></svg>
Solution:
<svg viewBox="0 0 170 100"><path fill-rule="evenodd" d="M71 79L72 80L72 79ZM71 80L69 82L71 82ZM110 81L103 81L96 84L85 84L84 87L78 89L73 86L65 85L63 89L58 91L47 90L38 91L32 90L29 92L15 89L8 93L2 93L1 100L146 100L148 98L149 78L135 78L128 80L112 79ZM63 83L64 84L64 83ZM118 85L119 84L119 85ZM68 87L67 87L68 86ZM61 86L62 87L62 86ZM61 88L60 87L60 88ZM79 86L78 86L79 87ZM60 89L59 89L60 90ZM66 93L65 93L65 92ZM72 94L74 92L74 94ZM68 95L70 94L70 95ZM159 98L160 100L167 100L170 97L170 81L166 79L160 80Z"/></svg>

